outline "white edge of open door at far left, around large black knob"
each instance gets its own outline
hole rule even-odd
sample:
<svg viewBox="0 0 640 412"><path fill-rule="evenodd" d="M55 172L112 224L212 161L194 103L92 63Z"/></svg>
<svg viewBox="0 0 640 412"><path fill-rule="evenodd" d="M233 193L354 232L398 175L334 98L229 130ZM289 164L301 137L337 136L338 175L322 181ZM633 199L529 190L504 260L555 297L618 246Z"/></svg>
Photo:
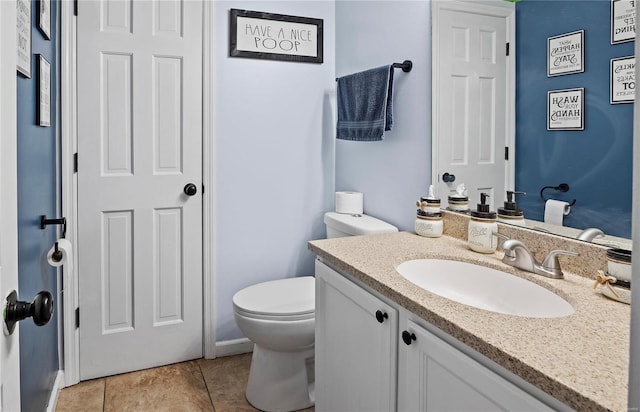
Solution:
<svg viewBox="0 0 640 412"><path fill-rule="evenodd" d="M16 3L0 2L0 299L18 290ZM2 331L0 331L2 333ZM20 327L0 337L0 409L20 410ZM6 357L5 357L6 356Z"/></svg>

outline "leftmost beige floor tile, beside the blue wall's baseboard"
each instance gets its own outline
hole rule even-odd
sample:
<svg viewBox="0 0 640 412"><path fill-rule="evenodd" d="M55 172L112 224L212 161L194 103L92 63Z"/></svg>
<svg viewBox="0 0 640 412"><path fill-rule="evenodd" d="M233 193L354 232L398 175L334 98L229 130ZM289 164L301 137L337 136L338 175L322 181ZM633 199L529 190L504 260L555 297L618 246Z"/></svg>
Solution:
<svg viewBox="0 0 640 412"><path fill-rule="evenodd" d="M60 391L56 412L98 412L104 408L106 379L80 382Z"/></svg>

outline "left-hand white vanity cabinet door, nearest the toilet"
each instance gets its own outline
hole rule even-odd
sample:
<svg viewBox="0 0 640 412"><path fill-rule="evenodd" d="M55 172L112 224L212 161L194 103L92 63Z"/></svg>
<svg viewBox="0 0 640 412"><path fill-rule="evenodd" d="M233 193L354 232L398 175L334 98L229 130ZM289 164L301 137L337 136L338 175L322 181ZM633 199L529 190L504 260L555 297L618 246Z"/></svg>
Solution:
<svg viewBox="0 0 640 412"><path fill-rule="evenodd" d="M397 330L394 308L317 261L316 411L395 411Z"/></svg>

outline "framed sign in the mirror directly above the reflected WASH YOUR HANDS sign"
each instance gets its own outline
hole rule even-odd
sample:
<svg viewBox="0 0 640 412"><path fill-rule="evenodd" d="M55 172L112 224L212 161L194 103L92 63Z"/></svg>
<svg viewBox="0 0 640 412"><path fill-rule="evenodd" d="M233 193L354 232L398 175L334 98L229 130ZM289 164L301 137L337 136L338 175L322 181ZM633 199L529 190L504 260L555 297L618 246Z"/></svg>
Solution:
<svg viewBox="0 0 640 412"><path fill-rule="evenodd" d="M547 39L547 77L584 72L584 30Z"/></svg>

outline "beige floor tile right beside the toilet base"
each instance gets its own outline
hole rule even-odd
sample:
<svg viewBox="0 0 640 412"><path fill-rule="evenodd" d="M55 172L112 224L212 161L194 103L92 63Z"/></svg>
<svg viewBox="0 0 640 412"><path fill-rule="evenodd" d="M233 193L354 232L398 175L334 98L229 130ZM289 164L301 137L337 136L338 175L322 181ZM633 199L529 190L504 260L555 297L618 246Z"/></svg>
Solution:
<svg viewBox="0 0 640 412"><path fill-rule="evenodd" d="M257 411L244 391L249 379L251 354L198 360L216 412Z"/></svg>

